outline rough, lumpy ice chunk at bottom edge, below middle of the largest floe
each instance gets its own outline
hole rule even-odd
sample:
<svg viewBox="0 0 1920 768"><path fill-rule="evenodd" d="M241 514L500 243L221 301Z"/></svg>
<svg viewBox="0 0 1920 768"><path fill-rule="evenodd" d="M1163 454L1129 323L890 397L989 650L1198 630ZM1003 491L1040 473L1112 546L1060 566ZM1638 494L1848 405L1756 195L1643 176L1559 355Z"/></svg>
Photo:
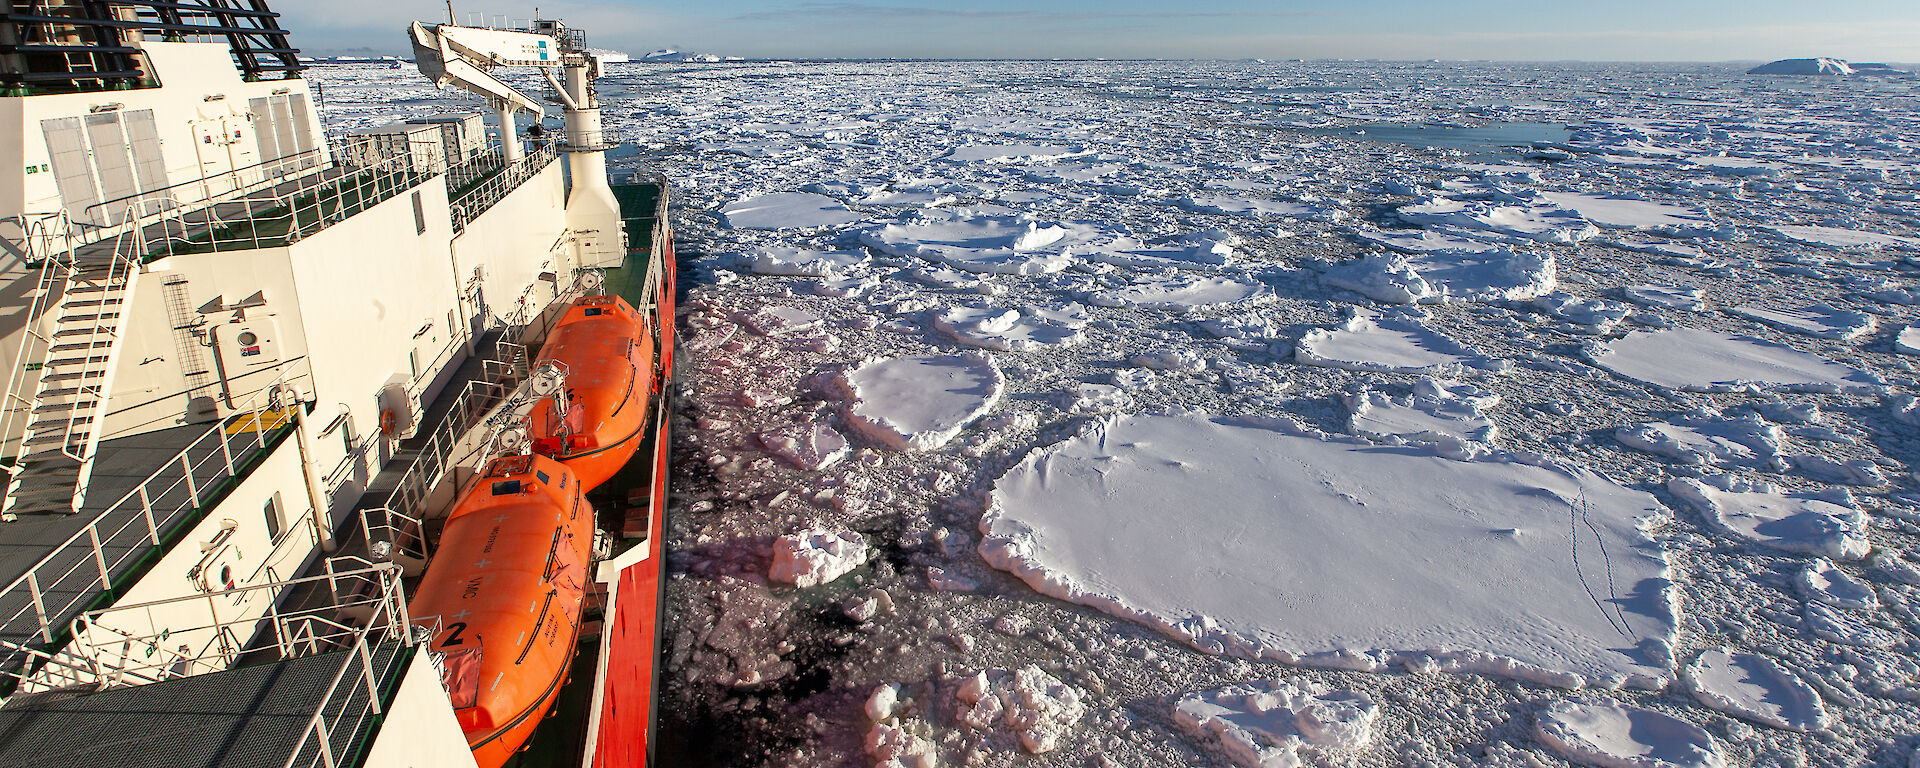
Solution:
<svg viewBox="0 0 1920 768"><path fill-rule="evenodd" d="M1380 707L1365 693L1292 680L1188 693L1173 705L1175 724L1242 768L1298 768L1313 755L1346 756L1373 741L1379 716Z"/></svg>

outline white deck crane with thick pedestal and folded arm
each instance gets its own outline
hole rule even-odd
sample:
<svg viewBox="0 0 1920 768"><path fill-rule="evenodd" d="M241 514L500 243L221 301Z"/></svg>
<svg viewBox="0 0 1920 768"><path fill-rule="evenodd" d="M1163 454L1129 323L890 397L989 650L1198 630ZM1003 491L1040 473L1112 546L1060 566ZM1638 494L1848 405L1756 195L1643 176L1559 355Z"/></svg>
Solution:
<svg viewBox="0 0 1920 768"><path fill-rule="evenodd" d="M566 192L566 228L574 236L574 267L618 267L626 259L626 232L620 204L607 186L607 150L601 132L599 58L586 48L578 31L559 21L534 21L532 29L480 29L424 25L415 21L413 60L434 86L455 86L492 102L499 113L499 138L507 163L522 157L515 132L515 113L545 115L541 104L492 75L499 67L538 69L553 86L566 117L566 165L572 188ZM561 71L561 75L555 75ZM563 83L564 79L564 83Z"/></svg>

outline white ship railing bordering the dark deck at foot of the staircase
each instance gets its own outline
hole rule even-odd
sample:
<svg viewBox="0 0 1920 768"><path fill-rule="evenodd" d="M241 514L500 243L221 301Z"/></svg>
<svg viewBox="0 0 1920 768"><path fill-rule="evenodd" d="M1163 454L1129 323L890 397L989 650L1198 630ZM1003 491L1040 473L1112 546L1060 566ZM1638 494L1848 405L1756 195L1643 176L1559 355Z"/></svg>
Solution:
<svg viewBox="0 0 1920 768"><path fill-rule="evenodd" d="M50 547L25 574L0 589L0 603L19 605L0 618L0 636L38 637L42 645L56 647L65 630L63 616L100 593L113 593L138 580L138 561L152 547L163 547L177 526L213 501L225 490L223 482L240 478L246 457L236 457L236 447L265 449L271 434L292 426L286 411L275 407L275 392L309 372L286 365L275 371L278 376L273 384L219 419L134 490L92 513L81 530ZM242 438L236 445L228 440L228 428L236 428L234 434L252 432L252 438ZM117 518L125 522L115 526ZM0 655L0 676L19 674L29 666L31 659L19 647Z"/></svg>

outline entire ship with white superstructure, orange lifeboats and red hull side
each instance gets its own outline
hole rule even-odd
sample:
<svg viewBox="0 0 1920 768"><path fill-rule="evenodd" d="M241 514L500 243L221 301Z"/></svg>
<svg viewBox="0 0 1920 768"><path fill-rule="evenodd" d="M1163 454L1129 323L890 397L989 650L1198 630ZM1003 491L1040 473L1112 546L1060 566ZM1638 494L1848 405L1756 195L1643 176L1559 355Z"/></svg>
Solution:
<svg viewBox="0 0 1920 768"><path fill-rule="evenodd" d="M0 766L653 760L668 180L584 31L405 35L486 108L328 131L267 0L0 13Z"/></svg>

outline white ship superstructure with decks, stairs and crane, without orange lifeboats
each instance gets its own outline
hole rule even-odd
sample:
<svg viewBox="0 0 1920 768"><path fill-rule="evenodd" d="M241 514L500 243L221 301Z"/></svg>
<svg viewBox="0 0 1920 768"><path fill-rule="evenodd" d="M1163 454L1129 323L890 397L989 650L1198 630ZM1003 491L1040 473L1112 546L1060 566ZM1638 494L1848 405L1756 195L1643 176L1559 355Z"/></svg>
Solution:
<svg viewBox="0 0 1920 768"><path fill-rule="evenodd" d="M522 146L505 96L493 142L478 115L328 136L276 19L0 15L0 764L474 764L409 630L403 555L430 524L407 513L453 493L451 447L524 372L493 340L628 255L593 73L541 69L566 142ZM422 35L591 61L551 21ZM407 509L363 522L390 490ZM115 716L152 732L35 741Z"/></svg>

